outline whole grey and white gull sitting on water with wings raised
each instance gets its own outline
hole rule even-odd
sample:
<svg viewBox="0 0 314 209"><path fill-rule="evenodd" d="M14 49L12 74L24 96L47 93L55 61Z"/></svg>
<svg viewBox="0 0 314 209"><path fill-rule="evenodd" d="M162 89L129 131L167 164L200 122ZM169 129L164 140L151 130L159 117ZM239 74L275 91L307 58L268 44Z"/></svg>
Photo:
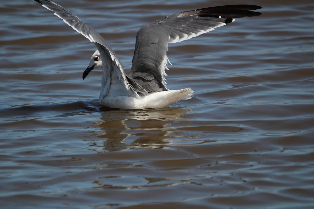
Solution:
<svg viewBox="0 0 314 209"><path fill-rule="evenodd" d="M83 73L102 68L99 101L118 109L159 109L180 100L191 99L193 90L166 87L168 44L184 41L235 21L234 18L261 15L255 5L225 5L171 14L139 29L132 67L127 75L120 59L96 30L51 0L34 0L51 11L96 45L97 50ZM171 64L171 63L170 63Z"/></svg>

